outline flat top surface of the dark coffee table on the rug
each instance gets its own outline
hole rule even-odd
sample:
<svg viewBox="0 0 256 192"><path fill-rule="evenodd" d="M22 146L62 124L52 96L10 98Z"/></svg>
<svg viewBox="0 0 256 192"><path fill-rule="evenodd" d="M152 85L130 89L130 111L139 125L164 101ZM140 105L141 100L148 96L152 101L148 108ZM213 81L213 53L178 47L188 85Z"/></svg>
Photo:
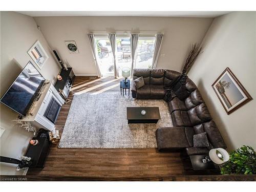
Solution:
<svg viewBox="0 0 256 192"><path fill-rule="evenodd" d="M145 115L141 114L142 110L146 111ZM159 108L157 107L131 107L127 108L127 119L161 119L161 117L159 113Z"/></svg>

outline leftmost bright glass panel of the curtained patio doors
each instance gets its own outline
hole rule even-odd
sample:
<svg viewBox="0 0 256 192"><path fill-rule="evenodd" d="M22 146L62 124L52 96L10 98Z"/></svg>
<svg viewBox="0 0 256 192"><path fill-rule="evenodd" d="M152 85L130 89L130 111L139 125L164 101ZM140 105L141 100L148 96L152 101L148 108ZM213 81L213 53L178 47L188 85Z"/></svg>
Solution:
<svg viewBox="0 0 256 192"><path fill-rule="evenodd" d="M103 76L114 75L114 56L108 37L94 37L96 44L96 56L100 72ZM98 53L98 54L97 54Z"/></svg>

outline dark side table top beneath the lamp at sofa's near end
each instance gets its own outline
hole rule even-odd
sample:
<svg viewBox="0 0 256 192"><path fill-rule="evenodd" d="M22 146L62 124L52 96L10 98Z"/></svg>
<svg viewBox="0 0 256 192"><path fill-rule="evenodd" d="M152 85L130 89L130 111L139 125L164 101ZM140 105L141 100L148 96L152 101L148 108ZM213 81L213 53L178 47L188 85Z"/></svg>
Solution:
<svg viewBox="0 0 256 192"><path fill-rule="evenodd" d="M204 155L190 155L190 161L193 166L193 170L206 170L206 169L216 169L212 161L203 163L205 156L209 157L209 154Z"/></svg>

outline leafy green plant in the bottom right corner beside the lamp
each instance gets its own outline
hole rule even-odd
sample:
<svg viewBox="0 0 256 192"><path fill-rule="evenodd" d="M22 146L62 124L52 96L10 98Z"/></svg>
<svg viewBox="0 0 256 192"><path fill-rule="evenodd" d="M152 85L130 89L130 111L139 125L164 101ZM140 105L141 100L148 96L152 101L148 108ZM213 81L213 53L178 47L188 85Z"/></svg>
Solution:
<svg viewBox="0 0 256 192"><path fill-rule="evenodd" d="M229 154L222 165L221 174L256 174L256 153L251 146L243 145Z"/></svg>

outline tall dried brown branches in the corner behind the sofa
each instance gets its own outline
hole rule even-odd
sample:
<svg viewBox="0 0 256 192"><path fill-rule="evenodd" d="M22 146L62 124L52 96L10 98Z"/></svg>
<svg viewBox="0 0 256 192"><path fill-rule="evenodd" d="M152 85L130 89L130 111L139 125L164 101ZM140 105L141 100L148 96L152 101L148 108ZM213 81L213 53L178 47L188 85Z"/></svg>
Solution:
<svg viewBox="0 0 256 192"><path fill-rule="evenodd" d="M196 61L198 55L202 53L202 47L197 44L193 44L188 52L187 59L185 61L184 68L182 70L183 74L187 74L189 69L192 67Z"/></svg>

